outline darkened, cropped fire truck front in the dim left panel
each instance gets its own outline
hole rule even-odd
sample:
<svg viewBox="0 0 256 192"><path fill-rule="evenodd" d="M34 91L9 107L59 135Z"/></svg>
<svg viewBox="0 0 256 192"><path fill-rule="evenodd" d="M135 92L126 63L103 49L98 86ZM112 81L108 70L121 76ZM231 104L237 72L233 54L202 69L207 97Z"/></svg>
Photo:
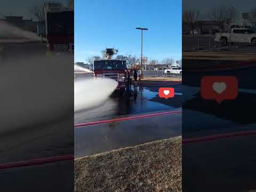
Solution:
<svg viewBox="0 0 256 192"><path fill-rule="evenodd" d="M49 3L45 9L47 52L74 53L74 10L60 3Z"/></svg>

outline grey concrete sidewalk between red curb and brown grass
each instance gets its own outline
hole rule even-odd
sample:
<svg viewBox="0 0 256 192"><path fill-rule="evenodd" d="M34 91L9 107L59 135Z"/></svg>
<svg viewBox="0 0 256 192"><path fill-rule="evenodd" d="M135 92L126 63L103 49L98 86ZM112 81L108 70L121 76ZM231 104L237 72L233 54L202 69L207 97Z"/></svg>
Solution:
<svg viewBox="0 0 256 192"><path fill-rule="evenodd" d="M75 158L181 135L181 113L75 128Z"/></svg>

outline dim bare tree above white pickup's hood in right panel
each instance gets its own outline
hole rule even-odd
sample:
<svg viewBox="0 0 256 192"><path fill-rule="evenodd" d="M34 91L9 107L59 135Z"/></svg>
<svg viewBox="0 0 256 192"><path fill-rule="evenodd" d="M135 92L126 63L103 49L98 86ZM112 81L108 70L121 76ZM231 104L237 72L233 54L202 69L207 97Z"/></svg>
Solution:
<svg viewBox="0 0 256 192"><path fill-rule="evenodd" d="M230 11L227 7L214 8L209 12L209 18L216 21L219 29L223 30L231 22Z"/></svg>

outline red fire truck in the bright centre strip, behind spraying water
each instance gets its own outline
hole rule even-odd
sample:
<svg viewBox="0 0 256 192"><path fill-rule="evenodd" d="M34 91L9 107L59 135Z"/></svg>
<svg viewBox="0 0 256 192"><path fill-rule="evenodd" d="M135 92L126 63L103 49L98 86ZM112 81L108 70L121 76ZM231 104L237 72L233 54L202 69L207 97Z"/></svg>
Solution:
<svg viewBox="0 0 256 192"><path fill-rule="evenodd" d="M94 60L93 70L94 78L111 78L118 82L117 90L123 92L126 87L127 79L127 67L126 61L121 59L111 59L115 54L115 49L106 49L103 51L104 58Z"/></svg>

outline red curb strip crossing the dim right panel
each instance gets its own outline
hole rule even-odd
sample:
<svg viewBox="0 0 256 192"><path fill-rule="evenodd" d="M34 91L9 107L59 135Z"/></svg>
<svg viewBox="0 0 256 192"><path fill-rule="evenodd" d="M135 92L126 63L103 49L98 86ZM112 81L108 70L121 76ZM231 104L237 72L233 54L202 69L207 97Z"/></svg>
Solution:
<svg viewBox="0 0 256 192"><path fill-rule="evenodd" d="M207 136L207 137L182 139L182 143L183 144L195 143L195 142L201 142L201 141L210 141L210 140L230 138L230 137L248 136L248 135L254 135L254 134L256 134L256 131L241 131L241 132L235 132L235 133L224 133L224 134L211 135L211 136Z"/></svg>

